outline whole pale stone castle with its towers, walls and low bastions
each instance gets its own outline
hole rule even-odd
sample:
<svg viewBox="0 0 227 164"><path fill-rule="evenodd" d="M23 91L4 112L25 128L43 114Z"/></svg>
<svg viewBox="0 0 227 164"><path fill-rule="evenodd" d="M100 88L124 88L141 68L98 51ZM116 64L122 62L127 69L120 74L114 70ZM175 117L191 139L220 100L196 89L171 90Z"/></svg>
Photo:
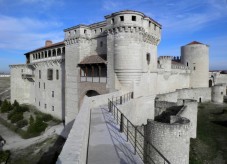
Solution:
<svg viewBox="0 0 227 164"><path fill-rule="evenodd" d="M135 125L148 124L151 142L166 156L177 154L178 163L187 163L197 102L223 102L227 76L209 73L209 46L196 41L182 46L180 57L158 57L161 30L158 22L131 10L67 28L63 42L46 41L25 54L26 64L10 66L11 101L33 104L67 124L85 95L132 91L134 99L122 111ZM153 121L171 106L182 108L168 123Z"/></svg>

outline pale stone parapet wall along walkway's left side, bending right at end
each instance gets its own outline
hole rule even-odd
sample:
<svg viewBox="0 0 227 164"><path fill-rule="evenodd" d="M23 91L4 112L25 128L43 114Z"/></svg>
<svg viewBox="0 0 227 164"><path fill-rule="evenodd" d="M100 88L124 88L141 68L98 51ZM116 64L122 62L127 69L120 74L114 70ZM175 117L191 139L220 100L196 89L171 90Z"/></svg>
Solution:
<svg viewBox="0 0 227 164"><path fill-rule="evenodd" d="M121 93L118 91L94 97L84 97L81 109L58 157L57 164L86 164L91 110L107 104L108 98L117 97Z"/></svg>

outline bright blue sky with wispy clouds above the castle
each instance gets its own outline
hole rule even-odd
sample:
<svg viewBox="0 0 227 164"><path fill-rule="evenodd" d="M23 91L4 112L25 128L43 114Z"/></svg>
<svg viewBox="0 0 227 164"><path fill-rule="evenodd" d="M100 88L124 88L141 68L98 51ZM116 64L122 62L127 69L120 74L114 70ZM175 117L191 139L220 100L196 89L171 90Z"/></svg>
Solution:
<svg viewBox="0 0 227 164"><path fill-rule="evenodd" d="M180 55L196 40L210 45L210 69L227 69L227 0L0 0L0 72L45 40L62 41L63 29L125 9L162 24L159 56Z"/></svg>

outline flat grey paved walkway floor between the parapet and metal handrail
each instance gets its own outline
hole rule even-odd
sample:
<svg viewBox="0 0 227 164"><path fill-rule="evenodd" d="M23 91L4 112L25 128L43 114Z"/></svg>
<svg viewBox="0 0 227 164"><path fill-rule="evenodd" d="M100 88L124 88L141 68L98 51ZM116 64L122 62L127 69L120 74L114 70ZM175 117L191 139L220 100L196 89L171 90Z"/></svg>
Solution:
<svg viewBox="0 0 227 164"><path fill-rule="evenodd" d="M119 129L107 105L91 110L88 164L143 163Z"/></svg>

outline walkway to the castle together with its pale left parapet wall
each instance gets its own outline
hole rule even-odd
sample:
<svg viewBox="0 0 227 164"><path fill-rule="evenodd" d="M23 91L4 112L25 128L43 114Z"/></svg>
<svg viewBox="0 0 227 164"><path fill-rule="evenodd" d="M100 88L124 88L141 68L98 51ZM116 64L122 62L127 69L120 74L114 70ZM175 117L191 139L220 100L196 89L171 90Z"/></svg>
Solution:
<svg viewBox="0 0 227 164"><path fill-rule="evenodd" d="M118 91L85 96L57 164L140 164L143 163L108 111L107 101L124 93ZM124 96L124 101L130 96Z"/></svg>

